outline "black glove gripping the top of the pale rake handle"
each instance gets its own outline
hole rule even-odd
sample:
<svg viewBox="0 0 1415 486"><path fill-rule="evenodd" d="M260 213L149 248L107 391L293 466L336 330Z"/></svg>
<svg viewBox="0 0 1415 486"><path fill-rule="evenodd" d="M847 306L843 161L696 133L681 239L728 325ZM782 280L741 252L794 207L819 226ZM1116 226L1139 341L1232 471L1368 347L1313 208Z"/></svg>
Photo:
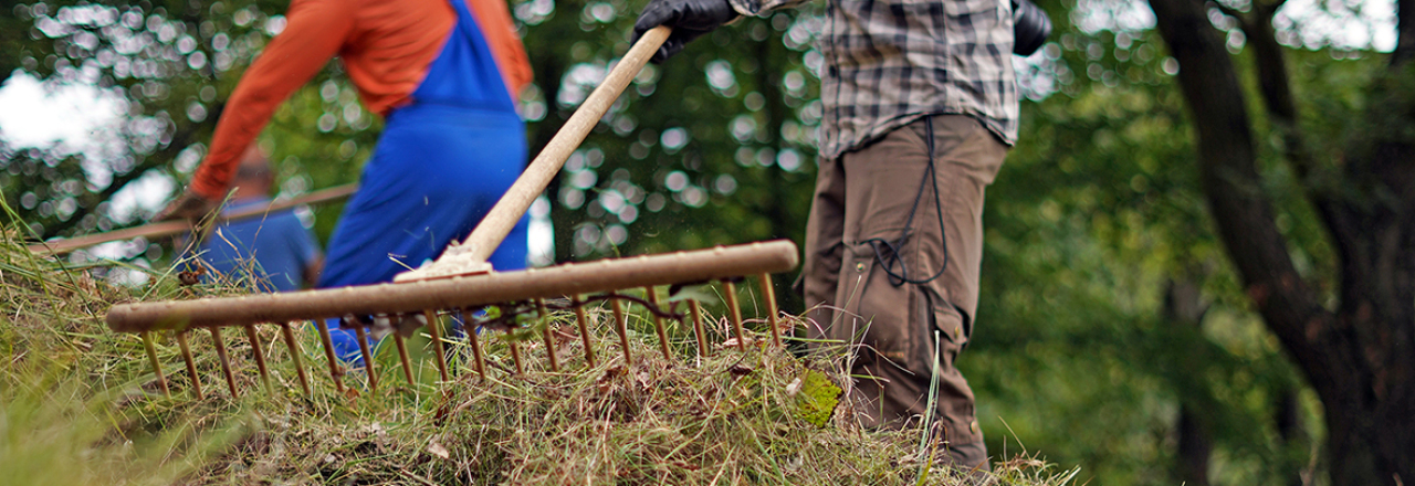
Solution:
<svg viewBox="0 0 1415 486"><path fill-rule="evenodd" d="M652 0L634 23L634 42L654 27L672 27L674 32L649 59L658 64L682 51L689 41L734 18L737 10L727 0Z"/></svg>

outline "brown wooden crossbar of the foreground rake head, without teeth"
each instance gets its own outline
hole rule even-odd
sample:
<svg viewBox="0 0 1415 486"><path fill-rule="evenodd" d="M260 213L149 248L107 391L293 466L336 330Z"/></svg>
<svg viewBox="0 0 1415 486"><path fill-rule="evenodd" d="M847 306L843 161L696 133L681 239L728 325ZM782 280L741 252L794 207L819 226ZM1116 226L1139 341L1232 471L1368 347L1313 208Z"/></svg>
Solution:
<svg viewBox="0 0 1415 486"><path fill-rule="evenodd" d="M797 247L790 240L758 242L402 284L119 304L108 311L105 319L109 329L116 332L143 332L293 322L337 318L348 314L385 315L416 314L426 309L470 309L539 297L593 294L781 273L795 268L797 259Z"/></svg>

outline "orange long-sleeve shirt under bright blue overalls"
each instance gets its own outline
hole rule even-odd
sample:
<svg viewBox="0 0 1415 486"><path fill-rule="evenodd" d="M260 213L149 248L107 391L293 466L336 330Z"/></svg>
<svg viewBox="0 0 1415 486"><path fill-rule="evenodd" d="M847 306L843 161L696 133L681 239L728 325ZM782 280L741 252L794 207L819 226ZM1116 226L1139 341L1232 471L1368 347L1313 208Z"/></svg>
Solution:
<svg viewBox="0 0 1415 486"><path fill-rule="evenodd" d="M531 62L505 0L464 1L515 100L531 82ZM275 109L335 55L369 112L388 114L408 105L456 23L447 0L290 1L284 31L266 45L226 100L191 191L212 201L224 198L241 154Z"/></svg>

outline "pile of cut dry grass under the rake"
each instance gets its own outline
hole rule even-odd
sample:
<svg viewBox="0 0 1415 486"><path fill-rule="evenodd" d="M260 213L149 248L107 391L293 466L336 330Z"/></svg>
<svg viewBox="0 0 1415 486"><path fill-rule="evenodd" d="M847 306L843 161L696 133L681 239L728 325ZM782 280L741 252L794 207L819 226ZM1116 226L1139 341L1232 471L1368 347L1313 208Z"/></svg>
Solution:
<svg viewBox="0 0 1415 486"><path fill-rule="evenodd" d="M304 396L276 329L260 331L275 387L265 391L236 332L232 398L211 352L192 333L205 398L191 394L175 342L158 339L173 397L157 391L142 342L102 322L116 302L232 292L181 287L168 274L129 288L0 242L0 470L14 483L270 485L964 485L968 472L930 461L920 431L870 432L835 410L839 360L780 350L717 349L695 357L675 331L658 353L642 318L624 366L604 312L591 312L599 363L562 336L562 372L519 336L528 370L511 373L508 339L490 336L485 380L453 349L451 383L417 367L406 383L381 356L381 387L359 372L334 390L313 332L300 333L314 377ZM720 338L720 336L719 336ZM719 339L720 340L720 339ZM426 339L413 339L422 349ZM392 355L392 353L385 353ZM42 446L41 446L42 444ZM983 475L995 485L1061 486L1075 470L1015 459Z"/></svg>

